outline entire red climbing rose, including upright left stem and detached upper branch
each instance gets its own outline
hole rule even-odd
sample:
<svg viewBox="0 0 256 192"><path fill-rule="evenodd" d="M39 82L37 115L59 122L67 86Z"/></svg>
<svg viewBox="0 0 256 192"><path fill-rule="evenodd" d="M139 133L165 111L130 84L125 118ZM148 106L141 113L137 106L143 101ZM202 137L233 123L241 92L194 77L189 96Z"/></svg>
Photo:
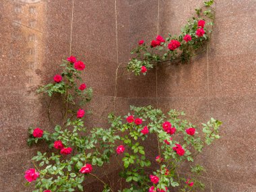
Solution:
<svg viewBox="0 0 256 192"><path fill-rule="evenodd" d="M207 1L205 6L210 7L212 3ZM200 15L201 9L197 9L197 13ZM209 10L203 14L207 18L213 17ZM138 57L131 59L128 68L135 74L146 74L153 66L152 62L172 61L178 55L187 60L193 51L209 39L210 31L205 29L205 25L210 23L206 24L201 18L193 18L178 38L164 39L158 35L150 43L150 49L153 50L150 53L146 42L140 40L135 50ZM168 51L161 59L154 50L162 51L165 47ZM143 51L144 59L141 59ZM198 176L205 169L193 161L205 146L220 138L220 121L212 118L201 127L196 127L185 119L185 113L177 110L170 110L166 115L152 106L131 106L130 112L124 117L110 113L107 128L88 130L84 125L84 117L88 114L85 104L92 99L92 89L87 88L81 77L86 65L70 56L63 61L61 67L61 75L55 75L53 82L40 87L38 93L50 97L49 106L53 95L63 101L62 122L51 131L42 127L30 127L28 130L29 146L40 141L50 148L47 152L38 151L32 158L34 168L29 168L24 174L27 185L34 182L33 192L84 191L86 177L100 181L103 192L203 189L204 185ZM50 114L49 120L54 122ZM155 141L155 154L149 154L146 150L152 139ZM191 167L189 177L182 174L183 162L189 163ZM121 179L116 181L121 182L119 189L104 181L104 175L95 174L96 167L107 164L119 166L117 177ZM126 184L122 185L122 181Z"/></svg>

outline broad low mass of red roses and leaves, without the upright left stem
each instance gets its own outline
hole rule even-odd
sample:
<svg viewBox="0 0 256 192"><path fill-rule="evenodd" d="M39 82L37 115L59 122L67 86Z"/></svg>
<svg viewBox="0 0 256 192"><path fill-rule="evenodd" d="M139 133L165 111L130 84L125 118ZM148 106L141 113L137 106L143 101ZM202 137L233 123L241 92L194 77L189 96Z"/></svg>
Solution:
<svg viewBox="0 0 256 192"><path fill-rule="evenodd" d="M36 170L30 168L25 178L29 183L35 181L34 192L83 191L82 183L86 177L102 177L94 174L94 167L113 163L120 165L119 176L130 185L118 191L171 191L174 187L191 191L203 188L203 183L197 178L203 167L191 165L190 177L186 178L181 176L181 162L193 163L193 156L201 153L205 144L210 145L218 139L221 122L210 119L202 124L202 129L196 128L184 118L179 119L185 115L183 112L170 110L166 116L152 106L131 106L131 113L123 118L108 115L108 129L88 130L84 126L84 117L67 119L63 127L57 125L55 131L43 131L42 137L34 137L34 131L30 129L28 143L41 139L49 144L49 148L55 148L51 153L38 152L32 158ZM157 140L156 170L146 169L154 163L148 160L152 154L146 154L146 146L143 146L149 135ZM111 158L113 156L121 156L122 162ZM110 183L99 181L104 184L102 191L117 191Z"/></svg>

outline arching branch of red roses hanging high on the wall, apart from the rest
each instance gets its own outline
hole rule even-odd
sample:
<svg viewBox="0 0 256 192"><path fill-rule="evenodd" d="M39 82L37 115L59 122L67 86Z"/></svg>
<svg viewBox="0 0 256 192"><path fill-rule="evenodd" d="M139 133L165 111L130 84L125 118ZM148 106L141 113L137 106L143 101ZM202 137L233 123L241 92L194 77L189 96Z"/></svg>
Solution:
<svg viewBox="0 0 256 192"><path fill-rule="evenodd" d="M205 51L204 46L210 40L214 25L213 3L213 0L205 1L203 7L195 9L197 16L188 21L179 36L168 34L167 38L163 38L158 35L151 42L139 40L138 46L131 51L133 58L127 65L128 71L135 75L146 75L154 65L172 61L184 63Z"/></svg>

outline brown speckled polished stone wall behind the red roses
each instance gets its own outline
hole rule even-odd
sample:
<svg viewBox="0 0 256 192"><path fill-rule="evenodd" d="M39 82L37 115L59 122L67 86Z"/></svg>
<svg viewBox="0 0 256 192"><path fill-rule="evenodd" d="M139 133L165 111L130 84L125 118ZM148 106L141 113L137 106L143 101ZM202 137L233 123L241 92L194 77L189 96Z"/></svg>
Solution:
<svg viewBox="0 0 256 192"><path fill-rule="evenodd" d="M146 76L123 75L137 41L179 34L202 0L0 0L0 192L32 191L24 171L43 145L26 145L27 129L51 131L46 103L34 90L52 81L61 59L75 55L86 63L84 82L94 89L86 108L89 127L107 127L114 110L129 105L184 110L197 123L223 121L221 139L196 162L207 168L205 191L256 191L255 7L254 0L216 0L216 26L206 53L188 65L162 65ZM51 110L57 110L58 103ZM103 117L103 118L99 118ZM57 115L58 118L58 115ZM154 138L152 138L154 139ZM153 143L153 142L152 142ZM154 157L156 149L148 143ZM115 165L105 168L115 181ZM96 170L100 174L100 170ZM115 173L115 174L114 174ZM183 172L187 174L187 172ZM102 185L88 181L85 191Z"/></svg>

